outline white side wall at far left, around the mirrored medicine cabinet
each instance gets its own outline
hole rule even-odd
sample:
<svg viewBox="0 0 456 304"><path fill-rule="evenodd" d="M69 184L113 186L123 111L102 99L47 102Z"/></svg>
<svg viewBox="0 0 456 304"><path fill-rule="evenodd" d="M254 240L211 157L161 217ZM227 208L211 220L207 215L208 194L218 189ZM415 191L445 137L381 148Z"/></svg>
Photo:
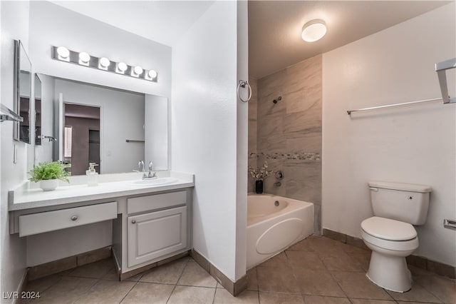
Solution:
<svg viewBox="0 0 456 304"><path fill-rule="evenodd" d="M0 1L1 14L1 103L14 109L14 39L20 39L28 51L28 1ZM26 242L9 234L8 191L24 180L26 174L26 144L12 140L13 123L0 124L0 189L1 189L1 292L17 291L26 268ZM13 163L14 146L19 161ZM13 299L2 299L11 303Z"/></svg>

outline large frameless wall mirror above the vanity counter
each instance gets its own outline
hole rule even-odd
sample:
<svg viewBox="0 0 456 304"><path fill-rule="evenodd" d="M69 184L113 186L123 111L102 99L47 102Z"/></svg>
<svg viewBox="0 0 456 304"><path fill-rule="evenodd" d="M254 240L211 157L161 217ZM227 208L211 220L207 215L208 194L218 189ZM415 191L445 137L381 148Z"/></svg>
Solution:
<svg viewBox="0 0 456 304"><path fill-rule="evenodd" d="M132 172L139 161L152 161L154 171L168 169L166 97L38 77L41 108L53 108L52 123L41 123L42 145L53 145L53 161L71 164L71 175L86 174L92 162L99 173Z"/></svg>

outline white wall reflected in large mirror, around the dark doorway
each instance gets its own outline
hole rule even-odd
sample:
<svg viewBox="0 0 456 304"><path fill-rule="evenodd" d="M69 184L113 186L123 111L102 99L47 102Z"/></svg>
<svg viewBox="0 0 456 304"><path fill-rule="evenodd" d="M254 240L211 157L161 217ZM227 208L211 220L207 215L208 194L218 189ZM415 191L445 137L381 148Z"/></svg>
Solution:
<svg viewBox="0 0 456 304"><path fill-rule="evenodd" d="M144 159L144 143L125 140L144 140L144 94L64 79L56 79L55 83L53 101L58 101L59 93L63 93L65 103L100 107L100 172L138 170L138 161ZM57 143L63 143L58 134L56 138Z"/></svg>

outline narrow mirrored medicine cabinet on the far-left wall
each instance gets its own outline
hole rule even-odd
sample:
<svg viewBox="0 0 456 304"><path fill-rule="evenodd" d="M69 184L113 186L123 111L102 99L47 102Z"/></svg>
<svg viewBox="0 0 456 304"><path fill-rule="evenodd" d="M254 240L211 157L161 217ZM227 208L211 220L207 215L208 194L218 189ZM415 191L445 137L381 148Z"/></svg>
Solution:
<svg viewBox="0 0 456 304"><path fill-rule="evenodd" d="M16 122L13 138L30 143L31 106L31 62L21 41L14 41L14 110L24 118Z"/></svg>

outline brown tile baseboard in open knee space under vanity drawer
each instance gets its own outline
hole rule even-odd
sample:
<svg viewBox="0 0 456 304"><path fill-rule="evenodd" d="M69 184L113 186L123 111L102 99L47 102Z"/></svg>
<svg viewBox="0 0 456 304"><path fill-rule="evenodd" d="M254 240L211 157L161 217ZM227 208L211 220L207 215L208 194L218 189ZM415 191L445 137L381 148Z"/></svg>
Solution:
<svg viewBox="0 0 456 304"><path fill-rule="evenodd" d="M81 265L93 263L97 260L104 260L105 258L110 258L111 255L111 246L108 246L88 251L86 253L73 255L68 258L61 258L60 260L53 260L49 263L32 266L27 268L28 280L36 280L47 275L53 275Z"/></svg>

